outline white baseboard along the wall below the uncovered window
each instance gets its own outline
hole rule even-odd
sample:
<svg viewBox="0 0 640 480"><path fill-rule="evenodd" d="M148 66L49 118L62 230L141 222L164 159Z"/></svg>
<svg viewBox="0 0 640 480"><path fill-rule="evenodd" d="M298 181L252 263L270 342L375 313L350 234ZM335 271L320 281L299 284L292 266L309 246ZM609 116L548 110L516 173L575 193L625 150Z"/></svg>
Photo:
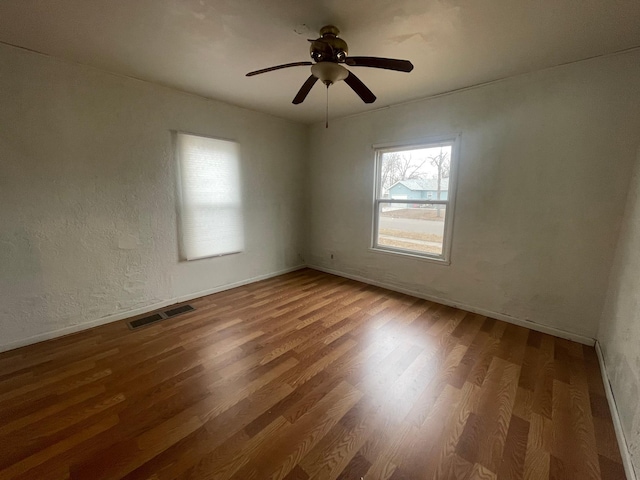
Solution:
<svg viewBox="0 0 640 480"><path fill-rule="evenodd" d="M320 267L318 265L308 265L308 267L314 270L319 270L321 272L337 275L339 277L350 278L351 280L356 280L362 283L368 283L369 285L375 285L376 287L386 288L388 290L393 290L394 292L404 293L406 295L423 298L431 302L441 303L442 305L447 305L449 307L459 308L461 310L466 310L468 312L477 313L479 315L484 315L486 317L495 318L497 320L502 320L507 323L512 323L514 325L519 325L521 327L530 328L531 330L535 330L537 332L548 333L549 335L553 335L554 337L565 338L567 340L572 340L574 342L582 343L590 347L593 346L595 343L595 339L584 336L584 335L580 335L573 332L567 332L566 330L561 330L559 328L549 327L547 325L542 325L540 323L532 322L530 320L522 320L520 318L506 315L504 313L492 312L491 310L477 308L472 305L455 302L447 298L441 298L434 295L427 295L422 292L409 290L407 288L399 287L391 283L378 282L377 280L371 280L370 278L361 277L359 275L352 275L352 274L340 272L338 270L332 270L330 268Z"/></svg>

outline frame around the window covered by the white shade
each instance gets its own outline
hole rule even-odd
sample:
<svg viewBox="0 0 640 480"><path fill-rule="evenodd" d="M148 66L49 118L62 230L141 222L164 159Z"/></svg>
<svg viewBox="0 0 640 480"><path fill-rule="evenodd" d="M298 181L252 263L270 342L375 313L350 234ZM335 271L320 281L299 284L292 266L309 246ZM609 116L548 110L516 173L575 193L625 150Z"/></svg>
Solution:
<svg viewBox="0 0 640 480"><path fill-rule="evenodd" d="M174 158L176 160L175 162L175 172L176 172L176 220L177 220L177 230L178 230L178 256L180 261L186 261L186 262L193 262L193 261L197 261L197 260L206 260L206 259L211 259L211 258L218 258L218 257L226 257L229 255L237 255L237 254L241 254L244 253L245 249L246 249L246 238L245 238L245 233L243 233L243 239L242 239L242 247L238 250L234 251L229 251L229 252L224 252L224 253L215 253L215 254L208 254L208 255L201 255L201 256L195 256L195 257L191 257L189 258L186 254L186 245L185 245L185 231L184 231L184 223L183 223L183 217L184 217L184 209L185 209L185 199L184 199L184 186L183 186L183 159L182 159L182 152L180 151L180 141L179 141L179 137L181 135L186 135L186 136L192 136L192 137L199 137L199 138L206 138L206 139L210 139L210 140L217 140L217 141L222 141L222 142L229 142L229 143L233 143L237 146L238 149L238 173L239 173L239 179L238 179L238 188L239 190L239 194L240 197L243 197L242 194L242 182L243 182L243 168L242 168L242 159L241 159L241 153L240 153L240 142L236 139L233 138L225 138L225 137L218 137L218 136L213 136L213 135L204 135L202 133L194 133L194 132L190 132L190 131L184 131L184 130L172 130L172 137L173 137L173 147L174 147ZM244 212L244 207L243 207L244 202L241 201L241 214L243 217L243 223L245 222L245 212ZM246 230L246 226L243 225L243 230Z"/></svg>

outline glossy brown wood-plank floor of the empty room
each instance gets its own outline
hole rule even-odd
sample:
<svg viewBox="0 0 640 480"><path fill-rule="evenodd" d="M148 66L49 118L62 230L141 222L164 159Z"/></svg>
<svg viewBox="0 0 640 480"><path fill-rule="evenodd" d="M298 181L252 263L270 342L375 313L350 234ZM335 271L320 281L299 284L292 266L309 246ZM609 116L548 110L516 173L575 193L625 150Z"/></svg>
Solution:
<svg viewBox="0 0 640 480"><path fill-rule="evenodd" d="M301 270L0 354L2 479L622 479L593 348Z"/></svg>

